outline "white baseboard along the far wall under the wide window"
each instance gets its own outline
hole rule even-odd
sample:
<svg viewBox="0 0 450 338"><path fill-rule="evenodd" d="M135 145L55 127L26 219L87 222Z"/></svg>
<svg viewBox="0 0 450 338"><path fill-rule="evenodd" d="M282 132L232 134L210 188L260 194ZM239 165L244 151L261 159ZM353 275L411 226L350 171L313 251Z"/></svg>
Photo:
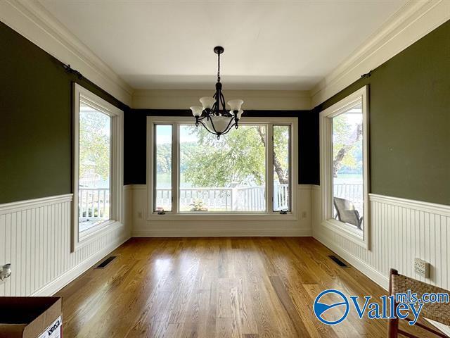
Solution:
<svg viewBox="0 0 450 338"><path fill-rule="evenodd" d="M131 237L311 237L310 229L136 229Z"/></svg>

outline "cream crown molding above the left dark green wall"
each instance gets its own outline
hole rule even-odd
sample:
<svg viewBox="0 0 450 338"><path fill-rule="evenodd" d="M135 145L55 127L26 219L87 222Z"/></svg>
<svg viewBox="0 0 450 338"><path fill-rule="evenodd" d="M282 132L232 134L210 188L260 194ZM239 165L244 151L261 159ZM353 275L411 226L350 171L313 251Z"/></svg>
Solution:
<svg viewBox="0 0 450 338"><path fill-rule="evenodd" d="M0 1L0 20L59 61L70 64L116 99L124 104L131 104L133 89L129 84L38 1Z"/></svg>

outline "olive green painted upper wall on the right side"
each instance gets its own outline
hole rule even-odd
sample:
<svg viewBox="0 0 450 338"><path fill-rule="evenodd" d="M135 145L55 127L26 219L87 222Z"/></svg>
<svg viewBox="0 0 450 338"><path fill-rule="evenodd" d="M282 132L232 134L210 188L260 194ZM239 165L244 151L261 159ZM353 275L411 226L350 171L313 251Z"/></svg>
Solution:
<svg viewBox="0 0 450 338"><path fill-rule="evenodd" d="M371 192L450 205L450 21L316 107L369 85Z"/></svg>

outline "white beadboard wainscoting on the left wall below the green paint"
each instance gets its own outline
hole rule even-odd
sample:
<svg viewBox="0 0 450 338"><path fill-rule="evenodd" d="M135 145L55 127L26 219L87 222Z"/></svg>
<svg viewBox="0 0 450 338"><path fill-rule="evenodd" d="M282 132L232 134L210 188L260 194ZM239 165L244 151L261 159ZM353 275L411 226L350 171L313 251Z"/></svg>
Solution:
<svg viewBox="0 0 450 338"><path fill-rule="evenodd" d="M50 296L129 239L122 225L71 253L71 204L72 194L0 204L0 264L12 268L0 296Z"/></svg>

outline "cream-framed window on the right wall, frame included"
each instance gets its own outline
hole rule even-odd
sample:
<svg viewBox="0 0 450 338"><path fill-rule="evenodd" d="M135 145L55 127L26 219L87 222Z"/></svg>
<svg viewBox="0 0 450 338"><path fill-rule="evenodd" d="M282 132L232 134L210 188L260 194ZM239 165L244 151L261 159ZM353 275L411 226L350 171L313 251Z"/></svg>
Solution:
<svg viewBox="0 0 450 338"><path fill-rule="evenodd" d="M363 87L321 112L322 225L368 246L368 107Z"/></svg>

